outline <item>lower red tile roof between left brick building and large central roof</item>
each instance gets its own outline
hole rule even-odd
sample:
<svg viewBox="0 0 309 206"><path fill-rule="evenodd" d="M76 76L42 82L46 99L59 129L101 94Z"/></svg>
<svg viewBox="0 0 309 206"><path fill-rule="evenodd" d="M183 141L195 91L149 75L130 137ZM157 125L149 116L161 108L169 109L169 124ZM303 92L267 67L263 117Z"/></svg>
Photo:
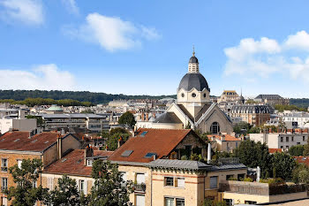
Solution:
<svg viewBox="0 0 309 206"><path fill-rule="evenodd" d="M113 151L94 150L94 156L110 156ZM43 173L91 176L92 167L85 165L85 149L75 149L68 155L50 164Z"/></svg>

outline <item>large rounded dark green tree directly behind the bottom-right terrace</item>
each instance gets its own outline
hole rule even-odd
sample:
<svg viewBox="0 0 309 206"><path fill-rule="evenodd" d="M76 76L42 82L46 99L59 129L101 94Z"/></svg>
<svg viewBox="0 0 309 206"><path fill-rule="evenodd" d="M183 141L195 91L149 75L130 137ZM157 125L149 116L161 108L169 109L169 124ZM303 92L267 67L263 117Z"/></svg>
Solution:
<svg viewBox="0 0 309 206"><path fill-rule="evenodd" d="M262 178L268 178L267 173L272 173L270 172L271 156L266 143L261 144L260 141L256 143L250 140L242 141L239 147L235 149L234 154L247 167L260 166Z"/></svg>

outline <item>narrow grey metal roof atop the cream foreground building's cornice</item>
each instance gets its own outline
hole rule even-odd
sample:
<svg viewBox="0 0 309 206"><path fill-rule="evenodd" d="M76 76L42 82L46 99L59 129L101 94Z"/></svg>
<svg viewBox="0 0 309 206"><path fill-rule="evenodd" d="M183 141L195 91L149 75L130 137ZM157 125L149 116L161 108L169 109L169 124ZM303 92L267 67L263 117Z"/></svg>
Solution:
<svg viewBox="0 0 309 206"><path fill-rule="evenodd" d="M191 169L191 170L205 170L212 166L204 164L199 161L192 160L177 160L177 159L156 159L155 161L147 164L151 168L178 168L178 169Z"/></svg>

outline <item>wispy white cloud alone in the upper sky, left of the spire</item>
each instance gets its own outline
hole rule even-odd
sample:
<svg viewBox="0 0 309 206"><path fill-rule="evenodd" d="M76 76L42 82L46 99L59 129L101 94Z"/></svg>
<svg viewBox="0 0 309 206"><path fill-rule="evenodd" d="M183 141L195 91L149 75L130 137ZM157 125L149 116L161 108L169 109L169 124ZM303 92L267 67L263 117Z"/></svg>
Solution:
<svg viewBox="0 0 309 206"><path fill-rule="evenodd" d="M64 33L94 42L109 51L128 50L140 46L143 38L153 40L161 36L153 27L137 26L130 21L99 13L88 14L86 23L79 28L64 27Z"/></svg>

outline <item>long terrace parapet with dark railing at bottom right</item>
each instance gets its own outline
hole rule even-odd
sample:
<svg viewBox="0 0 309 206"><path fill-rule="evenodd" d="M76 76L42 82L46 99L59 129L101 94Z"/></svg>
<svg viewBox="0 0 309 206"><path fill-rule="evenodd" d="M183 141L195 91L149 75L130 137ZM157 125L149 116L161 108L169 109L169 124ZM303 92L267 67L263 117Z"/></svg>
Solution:
<svg viewBox="0 0 309 206"><path fill-rule="evenodd" d="M219 191L247 195L285 195L305 192L305 185L270 184L244 181L222 181Z"/></svg>

